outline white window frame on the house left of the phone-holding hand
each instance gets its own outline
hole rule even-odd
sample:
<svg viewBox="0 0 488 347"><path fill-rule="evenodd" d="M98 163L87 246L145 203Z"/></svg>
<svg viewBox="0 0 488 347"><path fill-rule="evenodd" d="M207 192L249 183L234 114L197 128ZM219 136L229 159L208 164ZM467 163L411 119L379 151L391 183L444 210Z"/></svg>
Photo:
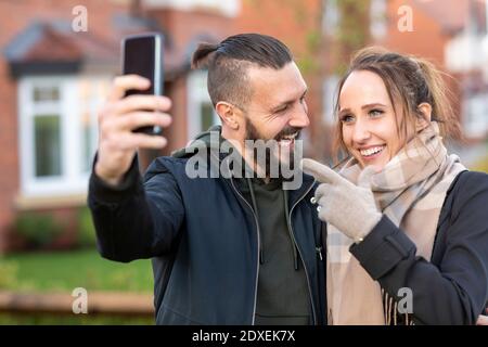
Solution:
<svg viewBox="0 0 488 347"><path fill-rule="evenodd" d="M84 194L87 191L90 170L81 171L81 117L84 107L79 100L78 75L65 76L26 76L18 80L18 149L21 165L21 196L51 197ZM95 80L110 81L110 77L97 77ZM60 99L57 102L42 102L37 104L34 99L36 87L57 87ZM101 100L98 100L100 102ZM97 141L95 103L90 108L92 131ZM42 113L53 113L60 116L61 131L61 176L36 177L35 165L35 116ZM92 133L92 134L93 134Z"/></svg>

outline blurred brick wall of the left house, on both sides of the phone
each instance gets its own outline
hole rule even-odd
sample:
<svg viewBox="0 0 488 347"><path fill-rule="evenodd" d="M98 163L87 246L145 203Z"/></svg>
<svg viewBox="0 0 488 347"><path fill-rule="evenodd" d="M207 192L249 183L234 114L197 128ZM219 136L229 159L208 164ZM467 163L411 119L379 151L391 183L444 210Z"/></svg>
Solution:
<svg viewBox="0 0 488 347"><path fill-rule="evenodd" d="M88 30L101 38L113 39L113 15L127 14L129 1L99 0L29 0L29 1L0 1L0 47L4 48L17 34L33 24L36 20L65 20L72 21L74 7L82 4L88 10ZM230 35L231 18L208 12L178 12L171 10L152 11L146 13L160 21L172 36L175 48L190 49L191 38L203 30L214 33L216 38ZM189 54L191 50L189 51ZM169 146L165 153L183 146L187 141L187 83L185 75L178 77L168 88L168 95L174 100L171 114L172 126L167 130ZM0 174L0 253L7 248L12 240L9 233L17 208L14 206L15 197L20 191L20 160L18 160L18 129L17 129L17 92L16 81L9 76L8 65L3 55L0 56L0 152L2 170ZM191 115L189 115L191 117ZM56 218L67 219L68 226L74 227L76 217L73 208L60 206ZM69 211L70 210L70 211ZM70 227L70 228L72 228ZM72 230L67 231L68 234ZM15 237L13 237L15 239Z"/></svg>

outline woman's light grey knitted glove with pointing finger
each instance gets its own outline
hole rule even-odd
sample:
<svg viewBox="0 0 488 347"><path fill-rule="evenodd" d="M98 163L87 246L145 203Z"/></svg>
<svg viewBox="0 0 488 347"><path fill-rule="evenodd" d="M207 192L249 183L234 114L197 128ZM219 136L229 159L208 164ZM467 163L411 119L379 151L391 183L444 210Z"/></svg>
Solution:
<svg viewBox="0 0 488 347"><path fill-rule="evenodd" d="M303 159L304 172L313 176L320 184L312 203L319 206L319 218L331 223L352 239L362 241L382 219L371 191L372 166L364 168L359 176L358 185L349 182L325 165L312 159Z"/></svg>

